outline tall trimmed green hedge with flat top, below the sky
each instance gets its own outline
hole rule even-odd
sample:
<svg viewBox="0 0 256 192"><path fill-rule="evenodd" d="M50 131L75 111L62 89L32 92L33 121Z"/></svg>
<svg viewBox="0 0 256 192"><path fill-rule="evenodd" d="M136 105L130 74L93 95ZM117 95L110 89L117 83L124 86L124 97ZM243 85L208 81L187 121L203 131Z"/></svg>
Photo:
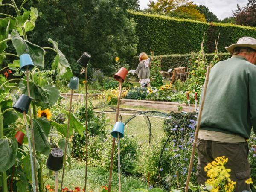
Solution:
<svg viewBox="0 0 256 192"><path fill-rule="evenodd" d="M249 26L206 23L133 11L129 11L128 14L137 23L138 53L150 53L150 49L155 55L197 51L201 49L204 32L204 52L207 53L214 52L215 39L218 39L219 33L219 52L227 52L224 47L236 43L243 36L256 37L256 28Z"/></svg>

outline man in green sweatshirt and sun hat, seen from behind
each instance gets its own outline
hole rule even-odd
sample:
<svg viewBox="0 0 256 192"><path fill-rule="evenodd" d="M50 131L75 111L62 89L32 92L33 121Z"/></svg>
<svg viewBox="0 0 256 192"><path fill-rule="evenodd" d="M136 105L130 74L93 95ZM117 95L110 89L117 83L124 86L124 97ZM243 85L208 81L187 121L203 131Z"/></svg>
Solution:
<svg viewBox="0 0 256 192"><path fill-rule="evenodd" d="M250 190L247 160L251 128L256 132L256 39L242 37L225 47L231 58L212 67L198 133L198 184L207 177L204 167L216 157L228 158L225 167L236 182L235 192Z"/></svg>

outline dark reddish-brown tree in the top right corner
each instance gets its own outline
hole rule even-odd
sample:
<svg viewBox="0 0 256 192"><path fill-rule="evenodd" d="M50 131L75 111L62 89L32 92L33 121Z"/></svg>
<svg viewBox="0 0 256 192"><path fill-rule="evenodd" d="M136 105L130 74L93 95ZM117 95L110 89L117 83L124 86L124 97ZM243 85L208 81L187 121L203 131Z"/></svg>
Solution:
<svg viewBox="0 0 256 192"><path fill-rule="evenodd" d="M247 1L248 3L244 7L240 7L237 4L237 9L233 12L233 16L239 25L256 27L256 0Z"/></svg>

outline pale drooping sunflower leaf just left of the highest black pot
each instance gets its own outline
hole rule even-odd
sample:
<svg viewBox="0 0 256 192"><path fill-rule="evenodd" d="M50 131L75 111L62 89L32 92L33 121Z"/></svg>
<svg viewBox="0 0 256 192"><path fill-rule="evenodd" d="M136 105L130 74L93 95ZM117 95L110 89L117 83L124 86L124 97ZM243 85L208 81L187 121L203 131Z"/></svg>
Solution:
<svg viewBox="0 0 256 192"><path fill-rule="evenodd" d="M65 55L58 49L58 43L52 39L48 39L53 44L53 48L56 50L57 54L52 63L52 69L57 69L58 76L61 78L71 78L73 76L72 69L68 63Z"/></svg>

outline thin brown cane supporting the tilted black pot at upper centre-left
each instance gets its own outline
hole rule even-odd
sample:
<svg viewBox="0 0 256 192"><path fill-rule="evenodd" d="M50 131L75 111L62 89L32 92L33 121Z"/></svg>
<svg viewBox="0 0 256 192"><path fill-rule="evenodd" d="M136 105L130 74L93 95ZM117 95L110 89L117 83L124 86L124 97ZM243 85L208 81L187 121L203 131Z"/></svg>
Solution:
<svg viewBox="0 0 256 192"><path fill-rule="evenodd" d="M85 179L84 179L84 192L86 192L86 185L87 185L87 169L88 169L88 96L87 96L87 67L85 68L85 126L86 126L86 147L85 147Z"/></svg>

